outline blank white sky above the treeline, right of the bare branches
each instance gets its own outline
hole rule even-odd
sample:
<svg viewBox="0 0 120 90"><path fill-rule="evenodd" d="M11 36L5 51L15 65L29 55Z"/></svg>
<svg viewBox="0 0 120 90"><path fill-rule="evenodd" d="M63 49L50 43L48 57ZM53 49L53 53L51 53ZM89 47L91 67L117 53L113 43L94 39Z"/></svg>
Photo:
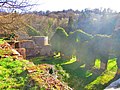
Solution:
<svg viewBox="0 0 120 90"><path fill-rule="evenodd" d="M36 11L62 11L62 10L83 10L85 8L111 8L120 12L120 0L37 0L33 10Z"/></svg>

